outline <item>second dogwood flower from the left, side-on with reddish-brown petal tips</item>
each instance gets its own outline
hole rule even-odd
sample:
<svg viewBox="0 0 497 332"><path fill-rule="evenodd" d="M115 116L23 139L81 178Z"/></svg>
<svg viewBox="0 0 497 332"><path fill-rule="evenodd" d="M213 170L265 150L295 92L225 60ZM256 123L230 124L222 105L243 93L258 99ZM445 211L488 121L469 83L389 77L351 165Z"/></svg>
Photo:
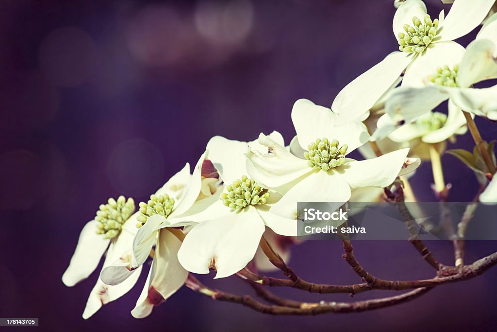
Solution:
<svg viewBox="0 0 497 332"><path fill-rule="evenodd" d="M178 222L177 217L184 216L190 210L204 208L205 202L212 201L213 194L217 192L218 182L219 175L207 159L206 151L198 160L193 174L190 175L187 163L147 203L140 203L138 223L135 225L139 230L129 246L130 250L100 274L101 280L108 285L126 282L156 245L147 282L131 312L133 317L150 315L154 306L164 302L184 284L188 272L177 260L183 233L172 227L189 224Z"/></svg>

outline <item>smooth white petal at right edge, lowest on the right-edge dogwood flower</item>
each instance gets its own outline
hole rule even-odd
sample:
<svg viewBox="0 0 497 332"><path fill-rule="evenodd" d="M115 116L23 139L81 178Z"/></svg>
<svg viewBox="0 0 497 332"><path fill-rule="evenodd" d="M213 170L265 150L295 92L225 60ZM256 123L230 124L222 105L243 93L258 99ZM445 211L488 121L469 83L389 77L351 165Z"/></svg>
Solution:
<svg viewBox="0 0 497 332"><path fill-rule="evenodd" d="M450 89L451 101L463 111L497 120L497 85L486 89Z"/></svg>

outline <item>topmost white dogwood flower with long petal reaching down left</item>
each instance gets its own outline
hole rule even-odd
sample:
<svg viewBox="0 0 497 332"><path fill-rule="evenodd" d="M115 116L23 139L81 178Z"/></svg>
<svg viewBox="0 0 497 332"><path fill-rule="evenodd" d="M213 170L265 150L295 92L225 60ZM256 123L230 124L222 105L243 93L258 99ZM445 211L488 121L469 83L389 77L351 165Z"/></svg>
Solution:
<svg viewBox="0 0 497 332"><path fill-rule="evenodd" d="M400 52L393 52L357 77L336 96L331 109L342 113L342 121L354 120L378 101L405 71L404 81L416 75L413 65L424 62L430 53L444 54L452 40L472 31L485 18L494 0L455 0L447 17L443 10L431 19L421 0L406 0L396 10L393 32Z"/></svg>

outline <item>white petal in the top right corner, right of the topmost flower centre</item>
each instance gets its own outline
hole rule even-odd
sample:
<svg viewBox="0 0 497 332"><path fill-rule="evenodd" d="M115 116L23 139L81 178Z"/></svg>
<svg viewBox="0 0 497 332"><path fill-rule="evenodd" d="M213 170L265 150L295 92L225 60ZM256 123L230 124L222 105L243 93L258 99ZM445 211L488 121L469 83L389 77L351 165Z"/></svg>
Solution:
<svg viewBox="0 0 497 332"><path fill-rule="evenodd" d="M454 40L462 37L483 22L495 0L458 0L439 25L440 40Z"/></svg>

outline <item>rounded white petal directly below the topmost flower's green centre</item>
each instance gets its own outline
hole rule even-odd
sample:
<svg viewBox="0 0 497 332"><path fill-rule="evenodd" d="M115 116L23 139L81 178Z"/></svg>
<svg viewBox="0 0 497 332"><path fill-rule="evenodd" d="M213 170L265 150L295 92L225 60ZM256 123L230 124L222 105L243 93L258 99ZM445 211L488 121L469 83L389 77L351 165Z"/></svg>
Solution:
<svg viewBox="0 0 497 332"><path fill-rule="evenodd" d="M453 68L461 63L465 52L464 47L453 41L434 44L409 66L404 74L402 86L422 88L431 84L429 77L436 74L438 67L447 65Z"/></svg>

